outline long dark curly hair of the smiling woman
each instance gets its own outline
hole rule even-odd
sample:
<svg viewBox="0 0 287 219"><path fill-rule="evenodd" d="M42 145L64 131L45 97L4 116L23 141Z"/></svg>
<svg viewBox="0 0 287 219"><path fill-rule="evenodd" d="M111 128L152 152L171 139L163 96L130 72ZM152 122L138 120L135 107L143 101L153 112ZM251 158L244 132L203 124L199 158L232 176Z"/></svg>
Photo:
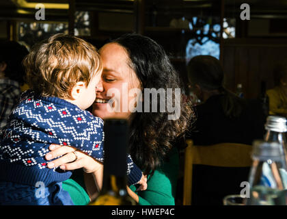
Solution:
<svg viewBox="0 0 287 219"><path fill-rule="evenodd" d="M159 111L160 95L157 95L156 112L135 112L132 116L129 151L143 172L150 174L161 166L176 141L184 136L194 113L190 103L182 98L182 92L180 92L180 104L174 103L175 88L180 88L180 78L163 47L139 34L124 34L112 42L126 49L129 66L141 82L142 93L145 88L156 90L172 88L172 103L174 107L180 107L179 118L169 119L168 116L172 113L167 112L166 109L165 112ZM171 101L167 96L165 100ZM144 97L143 94L143 102ZM150 109L152 109L151 106L152 101L150 101Z"/></svg>

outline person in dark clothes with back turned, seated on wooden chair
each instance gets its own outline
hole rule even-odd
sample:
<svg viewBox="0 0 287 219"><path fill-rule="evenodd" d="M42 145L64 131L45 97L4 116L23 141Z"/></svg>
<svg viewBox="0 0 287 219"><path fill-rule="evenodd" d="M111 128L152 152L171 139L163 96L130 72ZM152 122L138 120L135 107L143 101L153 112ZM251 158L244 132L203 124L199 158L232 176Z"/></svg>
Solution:
<svg viewBox="0 0 287 219"><path fill-rule="evenodd" d="M223 87L223 68L215 57L198 55L187 65L190 88L201 104L187 138L196 146L220 143L251 145L264 135L264 114L259 101L239 98ZM246 156L249 156L248 154ZM239 194L249 168L193 165L192 205L222 205L228 194ZM212 185L212 186L210 186Z"/></svg>

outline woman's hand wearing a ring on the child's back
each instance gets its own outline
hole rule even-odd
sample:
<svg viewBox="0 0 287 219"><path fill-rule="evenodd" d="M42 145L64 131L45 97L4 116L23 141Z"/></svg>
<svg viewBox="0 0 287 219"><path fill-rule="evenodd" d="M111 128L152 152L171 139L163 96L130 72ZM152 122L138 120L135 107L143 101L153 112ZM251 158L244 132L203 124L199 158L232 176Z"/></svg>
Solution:
<svg viewBox="0 0 287 219"><path fill-rule="evenodd" d="M51 152L47 153L45 156L47 160L51 160L59 156L62 157L53 160L53 162L49 162L47 164L48 168L55 168L58 166L62 170L75 170L83 168L83 170L87 173L102 170L103 165L100 164L100 162L97 162L94 158L82 153L81 151L77 151L71 146L51 144L49 149Z"/></svg>

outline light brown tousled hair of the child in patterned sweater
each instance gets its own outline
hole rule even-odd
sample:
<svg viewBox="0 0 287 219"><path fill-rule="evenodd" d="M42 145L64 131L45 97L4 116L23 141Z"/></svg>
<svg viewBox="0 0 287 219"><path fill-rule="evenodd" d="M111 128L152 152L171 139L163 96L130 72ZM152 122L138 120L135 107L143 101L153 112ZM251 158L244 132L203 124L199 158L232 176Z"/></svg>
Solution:
<svg viewBox="0 0 287 219"><path fill-rule="evenodd" d="M55 34L37 44L23 60L27 82L42 96L71 99L70 89L79 81L88 86L102 71L97 49L75 36Z"/></svg>

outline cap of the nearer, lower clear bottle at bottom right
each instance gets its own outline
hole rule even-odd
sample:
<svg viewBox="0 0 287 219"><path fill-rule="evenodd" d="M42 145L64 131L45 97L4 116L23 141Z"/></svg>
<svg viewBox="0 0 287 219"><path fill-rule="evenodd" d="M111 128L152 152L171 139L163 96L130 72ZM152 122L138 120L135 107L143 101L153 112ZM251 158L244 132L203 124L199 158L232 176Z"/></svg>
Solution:
<svg viewBox="0 0 287 219"><path fill-rule="evenodd" d="M252 157L260 160L278 160L284 156L284 149L278 142L264 142L256 140L253 143Z"/></svg>

